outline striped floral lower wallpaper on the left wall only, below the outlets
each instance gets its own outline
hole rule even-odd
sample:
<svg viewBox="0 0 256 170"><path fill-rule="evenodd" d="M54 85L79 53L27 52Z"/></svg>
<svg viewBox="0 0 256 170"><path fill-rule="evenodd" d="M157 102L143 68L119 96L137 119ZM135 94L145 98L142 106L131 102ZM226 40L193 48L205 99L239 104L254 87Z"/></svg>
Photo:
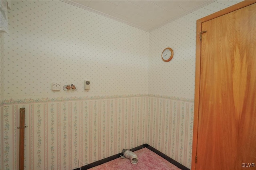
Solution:
<svg viewBox="0 0 256 170"><path fill-rule="evenodd" d="M19 101L17 101L18 103ZM1 169L18 169L19 108L25 107L25 169L71 170L146 143L148 97L2 106Z"/></svg>

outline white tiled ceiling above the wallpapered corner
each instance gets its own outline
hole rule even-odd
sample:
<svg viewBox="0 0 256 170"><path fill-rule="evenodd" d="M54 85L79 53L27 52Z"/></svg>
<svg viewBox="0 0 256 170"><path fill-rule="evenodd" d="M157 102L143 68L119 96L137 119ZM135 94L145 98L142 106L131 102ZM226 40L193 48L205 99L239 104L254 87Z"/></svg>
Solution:
<svg viewBox="0 0 256 170"><path fill-rule="evenodd" d="M152 31L214 0L62 0L97 14Z"/></svg>

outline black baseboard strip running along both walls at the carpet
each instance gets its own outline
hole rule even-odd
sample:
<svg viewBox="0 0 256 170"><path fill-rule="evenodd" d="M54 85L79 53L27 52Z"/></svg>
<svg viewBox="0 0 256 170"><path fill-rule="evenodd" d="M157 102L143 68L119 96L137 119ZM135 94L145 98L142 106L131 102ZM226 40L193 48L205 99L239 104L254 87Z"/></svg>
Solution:
<svg viewBox="0 0 256 170"><path fill-rule="evenodd" d="M136 150L140 150L142 148L148 148L149 150L151 150L152 152L155 152L156 154L158 154L159 156L161 156L162 158L166 159L168 162L174 164L175 166L177 166L178 168L182 169L182 170L190 170L189 168L187 168L186 166L180 164L179 162L177 162L176 160L170 158L169 156L167 156L166 154L163 154L162 152L160 152L159 150L153 148L152 146L148 145L148 144L142 144L140 146L137 146L135 148L132 148L132 149L129 149L130 151L134 152ZM120 158L120 155L122 154L119 153L119 154L115 154L113 156L110 156L108 158L104 158L102 160L98 160L96 162L93 162L91 164L87 164L85 166L82 166L81 168L76 168L74 170L88 170L90 168L93 168L94 166L98 166L98 165L101 165L101 164L104 164L106 162L109 162L111 160L114 160L116 158Z"/></svg>

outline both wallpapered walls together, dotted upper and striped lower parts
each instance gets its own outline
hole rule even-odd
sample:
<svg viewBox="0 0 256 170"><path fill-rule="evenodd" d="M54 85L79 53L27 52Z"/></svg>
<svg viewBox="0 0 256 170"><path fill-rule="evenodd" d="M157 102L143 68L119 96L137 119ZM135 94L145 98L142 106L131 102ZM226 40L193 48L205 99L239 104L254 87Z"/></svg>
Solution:
<svg viewBox="0 0 256 170"><path fill-rule="evenodd" d="M236 2L150 33L60 1L11 3L1 42L1 169L18 168L20 107L25 169L74 169L144 143L190 168L196 19ZM169 63L160 58L166 47ZM51 91L53 82L78 91Z"/></svg>

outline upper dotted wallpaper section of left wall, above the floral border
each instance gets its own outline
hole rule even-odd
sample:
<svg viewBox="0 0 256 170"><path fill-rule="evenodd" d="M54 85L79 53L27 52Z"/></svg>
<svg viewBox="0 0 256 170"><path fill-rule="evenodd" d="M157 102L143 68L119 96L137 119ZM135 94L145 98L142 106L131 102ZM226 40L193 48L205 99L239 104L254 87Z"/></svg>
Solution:
<svg viewBox="0 0 256 170"><path fill-rule="evenodd" d="M10 2L2 99L148 93L148 32L61 1Z"/></svg>

